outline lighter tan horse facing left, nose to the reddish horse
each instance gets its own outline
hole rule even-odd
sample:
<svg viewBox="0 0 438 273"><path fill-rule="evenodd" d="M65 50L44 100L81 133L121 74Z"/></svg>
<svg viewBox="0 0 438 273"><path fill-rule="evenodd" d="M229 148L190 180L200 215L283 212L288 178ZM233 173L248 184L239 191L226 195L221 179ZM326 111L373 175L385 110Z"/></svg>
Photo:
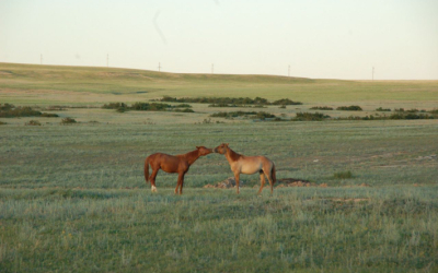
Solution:
<svg viewBox="0 0 438 273"><path fill-rule="evenodd" d="M232 151L228 143L222 143L214 149L215 153L224 154L228 163L230 164L232 173L234 173L235 186L239 194L239 176L240 174L253 175L260 173L261 176L261 188L257 194L262 193L263 186L265 186L265 176L270 185L270 194L273 193L273 187L276 182L275 165L267 157L258 156L244 156Z"/></svg>

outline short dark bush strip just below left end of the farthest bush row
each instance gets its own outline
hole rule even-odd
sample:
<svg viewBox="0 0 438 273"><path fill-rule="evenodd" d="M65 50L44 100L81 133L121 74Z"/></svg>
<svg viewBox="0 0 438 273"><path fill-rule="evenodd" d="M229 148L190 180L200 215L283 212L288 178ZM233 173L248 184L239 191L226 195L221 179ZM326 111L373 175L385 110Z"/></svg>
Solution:
<svg viewBox="0 0 438 273"><path fill-rule="evenodd" d="M125 103L110 103L102 106L104 109L116 109L119 112L135 110L135 111L181 111L181 112L195 112L188 104L170 105L160 103L135 103L128 105Z"/></svg>

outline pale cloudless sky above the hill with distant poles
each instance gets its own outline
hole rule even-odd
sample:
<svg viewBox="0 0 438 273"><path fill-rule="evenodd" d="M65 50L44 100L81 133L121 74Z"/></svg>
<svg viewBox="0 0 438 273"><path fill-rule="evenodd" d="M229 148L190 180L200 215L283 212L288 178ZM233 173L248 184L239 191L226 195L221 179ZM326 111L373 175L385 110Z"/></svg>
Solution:
<svg viewBox="0 0 438 273"><path fill-rule="evenodd" d="M0 62L438 80L437 0L0 0Z"/></svg>

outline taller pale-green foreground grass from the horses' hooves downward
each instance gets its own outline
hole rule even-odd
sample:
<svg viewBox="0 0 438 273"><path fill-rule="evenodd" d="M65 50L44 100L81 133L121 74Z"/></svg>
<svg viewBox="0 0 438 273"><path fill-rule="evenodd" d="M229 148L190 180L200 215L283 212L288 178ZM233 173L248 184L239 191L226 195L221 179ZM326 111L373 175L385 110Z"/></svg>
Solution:
<svg viewBox="0 0 438 273"><path fill-rule="evenodd" d="M434 272L437 190L1 190L0 259L5 272Z"/></svg>

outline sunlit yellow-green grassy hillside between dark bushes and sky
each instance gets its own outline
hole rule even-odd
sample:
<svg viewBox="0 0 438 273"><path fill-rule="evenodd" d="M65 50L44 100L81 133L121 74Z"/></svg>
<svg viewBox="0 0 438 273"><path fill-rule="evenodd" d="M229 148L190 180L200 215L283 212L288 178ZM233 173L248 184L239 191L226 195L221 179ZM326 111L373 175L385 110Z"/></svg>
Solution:
<svg viewBox="0 0 438 273"><path fill-rule="evenodd" d="M309 103L435 102L438 81L338 81L274 75L176 74L145 70L0 63L0 99L96 105L172 97L288 97Z"/></svg>

